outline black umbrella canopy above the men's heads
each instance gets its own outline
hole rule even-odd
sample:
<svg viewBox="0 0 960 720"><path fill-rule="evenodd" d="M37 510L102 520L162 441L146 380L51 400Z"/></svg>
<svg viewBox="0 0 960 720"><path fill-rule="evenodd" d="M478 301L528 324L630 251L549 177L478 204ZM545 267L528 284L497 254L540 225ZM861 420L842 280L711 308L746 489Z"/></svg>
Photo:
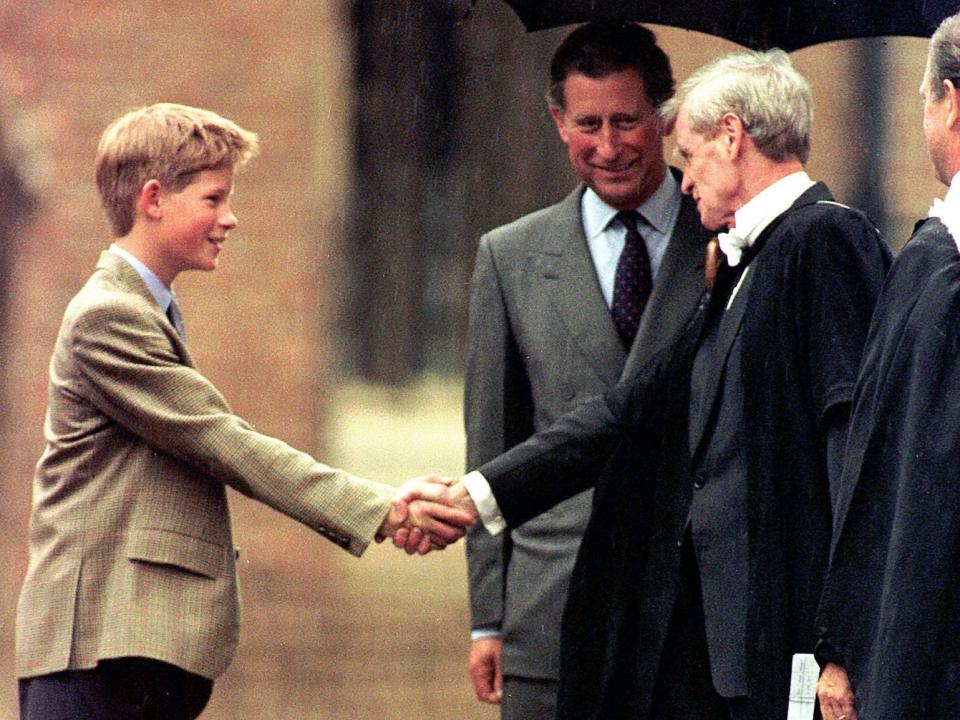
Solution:
<svg viewBox="0 0 960 720"><path fill-rule="evenodd" d="M930 37L958 0L506 0L528 31L595 20L696 30L749 48L848 38Z"/></svg>

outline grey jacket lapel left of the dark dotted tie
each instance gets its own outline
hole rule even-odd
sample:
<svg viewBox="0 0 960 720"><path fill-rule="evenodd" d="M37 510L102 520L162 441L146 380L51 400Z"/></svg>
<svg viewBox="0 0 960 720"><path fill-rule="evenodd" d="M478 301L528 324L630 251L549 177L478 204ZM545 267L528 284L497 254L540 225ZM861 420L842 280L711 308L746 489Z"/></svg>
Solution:
<svg viewBox="0 0 960 720"><path fill-rule="evenodd" d="M540 258L543 289L580 352L597 375L612 385L620 377L626 351L583 236L582 195L581 186L566 197L547 233Z"/></svg>

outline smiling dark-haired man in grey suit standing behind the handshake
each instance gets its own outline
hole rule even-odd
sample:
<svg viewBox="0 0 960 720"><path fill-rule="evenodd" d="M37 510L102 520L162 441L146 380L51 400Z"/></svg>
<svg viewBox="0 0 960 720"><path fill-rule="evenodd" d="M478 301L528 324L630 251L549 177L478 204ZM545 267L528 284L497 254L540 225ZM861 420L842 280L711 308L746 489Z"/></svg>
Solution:
<svg viewBox="0 0 960 720"><path fill-rule="evenodd" d="M706 233L663 157L657 109L674 83L653 33L584 25L550 73L550 114L582 184L480 240L465 399L471 468L631 375L675 340L703 289ZM504 720L554 717L560 617L590 496L505 539L481 526L468 533L470 675Z"/></svg>

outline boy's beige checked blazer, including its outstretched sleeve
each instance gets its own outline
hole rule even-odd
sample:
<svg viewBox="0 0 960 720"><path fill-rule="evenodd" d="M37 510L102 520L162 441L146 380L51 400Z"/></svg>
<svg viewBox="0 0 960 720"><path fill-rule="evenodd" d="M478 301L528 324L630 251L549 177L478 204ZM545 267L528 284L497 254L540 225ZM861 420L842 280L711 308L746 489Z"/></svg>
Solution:
<svg viewBox="0 0 960 720"><path fill-rule="evenodd" d="M18 677L143 656L215 678L239 628L226 485L355 555L393 489L233 415L140 276L104 252L50 361Z"/></svg>

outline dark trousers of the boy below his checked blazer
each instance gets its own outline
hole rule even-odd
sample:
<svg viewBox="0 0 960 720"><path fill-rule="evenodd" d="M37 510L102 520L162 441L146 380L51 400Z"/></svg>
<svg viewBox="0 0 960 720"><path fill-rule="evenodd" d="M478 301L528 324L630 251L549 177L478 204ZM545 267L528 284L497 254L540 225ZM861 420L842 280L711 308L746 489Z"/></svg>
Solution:
<svg viewBox="0 0 960 720"><path fill-rule="evenodd" d="M20 680L20 720L194 720L213 681L149 658Z"/></svg>

